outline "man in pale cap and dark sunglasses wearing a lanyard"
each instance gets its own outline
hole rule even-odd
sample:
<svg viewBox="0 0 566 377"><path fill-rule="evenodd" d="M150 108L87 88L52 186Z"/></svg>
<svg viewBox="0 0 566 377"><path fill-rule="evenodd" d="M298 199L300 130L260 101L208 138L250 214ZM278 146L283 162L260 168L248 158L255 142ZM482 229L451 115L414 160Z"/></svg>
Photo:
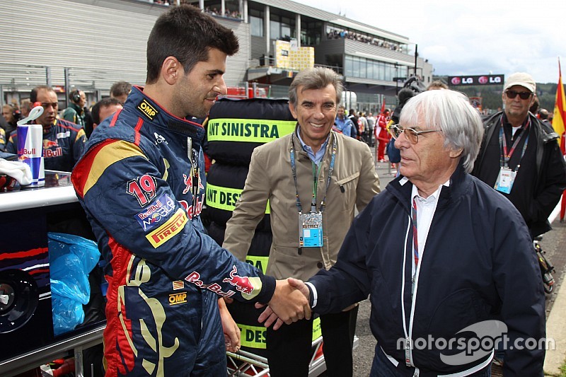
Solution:
<svg viewBox="0 0 566 377"><path fill-rule="evenodd" d="M512 74L502 93L504 110L484 119L485 133L472 174L519 209L531 237L550 231L548 216L566 188L558 134L529 112L536 83Z"/></svg>

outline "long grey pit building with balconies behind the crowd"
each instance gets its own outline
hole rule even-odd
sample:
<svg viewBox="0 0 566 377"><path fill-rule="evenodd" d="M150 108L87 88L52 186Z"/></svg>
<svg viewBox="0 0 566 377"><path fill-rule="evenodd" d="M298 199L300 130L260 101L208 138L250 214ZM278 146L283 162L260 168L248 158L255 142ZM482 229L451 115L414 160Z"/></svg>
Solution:
<svg viewBox="0 0 566 377"><path fill-rule="evenodd" d="M69 88L80 88L89 102L108 95L115 81L142 85L149 32L168 6L182 3L238 36L240 51L226 64L228 86L257 83L286 96L300 69L329 66L362 110L360 103L395 95L409 76L432 78L432 65L415 59L407 37L289 0L19 0L0 8L0 101L27 98L45 83L62 101ZM296 54L301 64L291 62Z"/></svg>

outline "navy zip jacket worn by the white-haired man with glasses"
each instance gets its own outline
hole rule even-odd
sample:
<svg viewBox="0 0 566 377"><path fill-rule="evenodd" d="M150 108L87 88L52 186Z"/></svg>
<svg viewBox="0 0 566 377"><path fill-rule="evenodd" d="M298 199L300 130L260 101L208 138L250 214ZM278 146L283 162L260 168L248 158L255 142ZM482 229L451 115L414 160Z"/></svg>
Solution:
<svg viewBox="0 0 566 377"><path fill-rule="evenodd" d="M414 370L405 367L407 337L449 340L469 325L494 318L507 325L512 341L544 337L541 272L521 214L491 187L464 173L461 165L450 186L441 190L411 314L411 190L406 178L396 178L354 220L336 265L309 280L318 292L313 311L340 311L369 294L376 352L381 346L407 375ZM471 335L457 336L468 341ZM411 357L420 376L466 371L490 358L490 352L483 352L464 365L441 359L441 354L460 352L413 347ZM542 376L543 359L544 350L509 350L506 376Z"/></svg>

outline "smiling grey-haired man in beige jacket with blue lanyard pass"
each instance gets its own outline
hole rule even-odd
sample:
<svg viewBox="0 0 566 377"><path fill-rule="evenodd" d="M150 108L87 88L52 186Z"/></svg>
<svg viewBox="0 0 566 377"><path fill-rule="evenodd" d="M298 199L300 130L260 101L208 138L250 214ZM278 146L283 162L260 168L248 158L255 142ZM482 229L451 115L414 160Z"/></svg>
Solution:
<svg viewBox="0 0 566 377"><path fill-rule="evenodd" d="M301 71L289 88L295 132L253 151L246 186L226 224L223 247L245 260L269 201L273 243L267 274L306 280L337 259L354 208L379 192L369 146L331 132L342 97L330 69ZM320 316L328 376L352 376L357 307ZM308 376L312 320L267 329L272 377Z"/></svg>

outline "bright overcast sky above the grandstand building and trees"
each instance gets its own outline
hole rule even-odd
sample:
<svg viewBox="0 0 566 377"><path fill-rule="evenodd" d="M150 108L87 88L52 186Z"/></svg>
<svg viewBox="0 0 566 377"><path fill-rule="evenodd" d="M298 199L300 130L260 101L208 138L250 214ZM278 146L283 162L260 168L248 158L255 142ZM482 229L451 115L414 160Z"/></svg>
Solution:
<svg viewBox="0 0 566 377"><path fill-rule="evenodd" d="M558 56L566 71L566 0L299 2L408 37L437 75L526 71L557 83Z"/></svg>

